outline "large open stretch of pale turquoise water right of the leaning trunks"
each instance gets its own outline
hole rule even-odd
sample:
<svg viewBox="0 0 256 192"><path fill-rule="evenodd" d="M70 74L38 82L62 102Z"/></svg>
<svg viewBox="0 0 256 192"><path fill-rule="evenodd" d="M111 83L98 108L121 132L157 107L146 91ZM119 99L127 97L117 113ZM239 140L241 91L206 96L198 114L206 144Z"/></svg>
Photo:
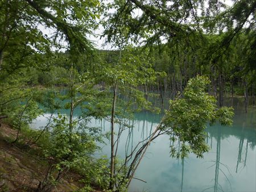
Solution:
<svg viewBox="0 0 256 192"><path fill-rule="evenodd" d="M236 106L233 127L208 126L211 150L204 159L191 155L180 165L168 157L168 137L155 141L136 174L147 184L134 180L129 190L256 191L256 112L253 107L247 114L242 110Z"/></svg>

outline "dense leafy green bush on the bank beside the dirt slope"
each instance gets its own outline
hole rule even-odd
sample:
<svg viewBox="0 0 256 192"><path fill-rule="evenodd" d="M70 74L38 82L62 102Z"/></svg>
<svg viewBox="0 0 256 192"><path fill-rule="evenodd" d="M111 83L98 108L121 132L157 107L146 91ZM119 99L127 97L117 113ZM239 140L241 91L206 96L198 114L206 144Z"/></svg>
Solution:
<svg viewBox="0 0 256 192"><path fill-rule="evenodd" d="M88 189L92 183L105 187L104 177L108 170L106 166L108 160L105 157L96 159L92 156L99 149L96 140L99 140L100 136L97 139L96 135L100 133L98 131L92 133L84 127L77 127L71 132L69 126L66 116L59 114L58 118L54 119L51 131L48 132L48 142L41 146L44 156L61 174L70 169L81 174L84 177L81 182L86 185L85 189Z"/></svg>

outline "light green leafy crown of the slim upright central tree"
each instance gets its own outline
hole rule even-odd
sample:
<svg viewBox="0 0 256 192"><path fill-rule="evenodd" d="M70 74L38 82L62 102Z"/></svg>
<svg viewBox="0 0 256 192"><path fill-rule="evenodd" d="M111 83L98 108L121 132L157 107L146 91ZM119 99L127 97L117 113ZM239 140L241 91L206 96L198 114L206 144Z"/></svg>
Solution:
<svg viewBox="0 0 256 192"><path fill-rule="evenodd" d="M100 81L108 85L105 89L108 88L110 94L113 94L114 86L117 85L117 115L121 117L123 109L126 110L123 117L129 116L129 112L138 112L142 109L157 111L147 101L145 97L147 93L138 89L139 86L155 84L156 77L163 75L161 72L154 71L151 60L147 57L147 51L145 50L142 54L140 48L128 46L121 51L121 57L112 54L111 62L102 64L97 76ZM105 60L108 61L108 59Z"/></svg>

